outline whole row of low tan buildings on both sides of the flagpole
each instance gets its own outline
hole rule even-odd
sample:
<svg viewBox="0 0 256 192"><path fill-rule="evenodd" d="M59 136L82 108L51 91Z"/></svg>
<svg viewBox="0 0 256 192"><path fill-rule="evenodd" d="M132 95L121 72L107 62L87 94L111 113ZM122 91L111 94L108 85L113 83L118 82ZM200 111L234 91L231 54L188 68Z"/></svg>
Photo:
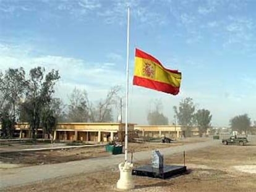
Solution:
<svg viewBox="0 0 256 192"><path fill-rule="evenodd" d="M53 132L53 140L101 142L117 139L123 141L124 131L125 123L58 123L56 130ZM135 125L129 123L128 133L129 141L140 136L182 138L186 137L186 128L181 125ZM19 138L30 138L31 131L28 128L28 123L17 123L14 135ZM42 128L36 131L36 135L37 138L49 138L48 135L43 133ZM192 128L190 135L198 136L198 128ZM210 135L210 129L207 130L206 135Z"/></svg>

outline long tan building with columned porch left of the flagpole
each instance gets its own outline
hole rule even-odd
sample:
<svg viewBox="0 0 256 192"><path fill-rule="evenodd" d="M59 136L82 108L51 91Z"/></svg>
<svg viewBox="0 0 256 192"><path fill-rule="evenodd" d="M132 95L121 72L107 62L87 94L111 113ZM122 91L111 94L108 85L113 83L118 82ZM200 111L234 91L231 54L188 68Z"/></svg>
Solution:
<svg viewBox="0 0 256 192"><path fill-rule="evenodd" d="M134 123L128 124L129 134L134 133ZM58 123L53 133L53 140L71 141L119 141L125 136L125 123ZM30 138L28 123L17 123L15 125L16 135L19 138ZM43 130L37 130L38 138L44 138Z"/></svg>

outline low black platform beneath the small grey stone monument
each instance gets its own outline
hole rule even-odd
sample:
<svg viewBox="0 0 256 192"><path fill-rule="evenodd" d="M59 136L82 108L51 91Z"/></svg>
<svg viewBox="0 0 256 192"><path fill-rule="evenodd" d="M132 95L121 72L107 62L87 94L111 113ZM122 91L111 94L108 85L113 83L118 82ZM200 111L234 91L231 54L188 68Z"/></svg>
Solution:
<svg viewBox="0 0 256 192"><path fill-rule="evenodd" d="M164 165L163 169L153 168L151 165L144 165L132 169L132 175L139 175L153 178L169 178L187 171L186 166Z"/></svg>

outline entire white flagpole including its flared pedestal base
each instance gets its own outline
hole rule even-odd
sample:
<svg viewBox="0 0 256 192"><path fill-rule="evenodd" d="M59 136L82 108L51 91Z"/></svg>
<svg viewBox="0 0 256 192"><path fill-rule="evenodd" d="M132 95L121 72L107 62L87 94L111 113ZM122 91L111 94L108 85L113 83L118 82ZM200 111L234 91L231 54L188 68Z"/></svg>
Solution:
<svg viewBox="0 0 256 192"><path fill-rule="evenodd" d="M127 9L127 58L126 58L126 135L124 143L124 160L119 164L120 178L117 182L117 188L121 190L130 190L134 188L132 180L133 164L127 161L128 159L128 87L129 87L129 23L130 23L130 7Z"/></svg>

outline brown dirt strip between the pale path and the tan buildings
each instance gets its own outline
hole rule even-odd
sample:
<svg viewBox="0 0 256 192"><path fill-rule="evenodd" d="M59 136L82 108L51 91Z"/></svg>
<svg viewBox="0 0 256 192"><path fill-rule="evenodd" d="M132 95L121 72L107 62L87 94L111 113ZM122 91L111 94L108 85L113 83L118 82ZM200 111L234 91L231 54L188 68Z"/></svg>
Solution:
<svg viewBox="0 0 256 192"><path fill-rule="evenodd" d="M182 145L186 143L198 143L207 140L210 140L210 138L186 138L184 140L174 141L173 143L129 143L129 152L169 148L172 146ZM49 144L39 144L34 146L30 145L30 148L38 148L39 146L45 148L48 145ZM63 146L63 144L61 146ZM12 151L15 149L27 149L29 148L29 145L11 144L8 146L1 146L1 148L2 151ZM105 152L105 146L58 149L54 151L1 152L0 169L4 169L7 167L25 167L31 165L56 164L61 162L79 161L83 159L111 155L112 154L110 152Z"/></svg>

